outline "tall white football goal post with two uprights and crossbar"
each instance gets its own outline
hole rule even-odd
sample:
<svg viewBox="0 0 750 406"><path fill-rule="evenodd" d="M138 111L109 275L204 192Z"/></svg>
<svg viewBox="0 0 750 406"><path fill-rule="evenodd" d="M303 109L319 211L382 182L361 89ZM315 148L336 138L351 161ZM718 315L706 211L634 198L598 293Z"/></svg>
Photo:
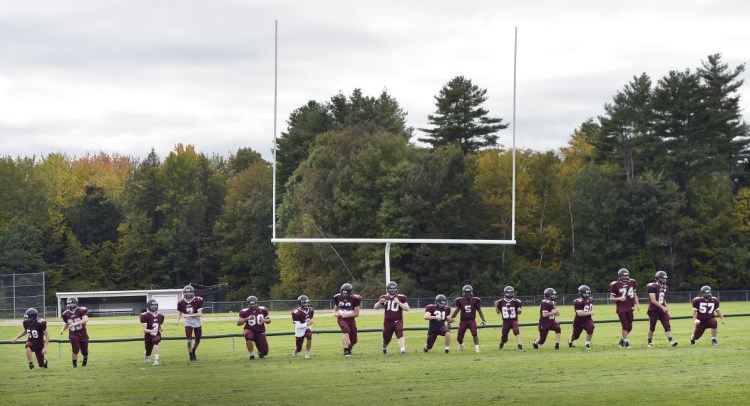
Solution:
<svg viewBox="0 0 750 406"><path fill-rule="evenodd" d="M482 244L514 245L516 243L516 59L518 48L518 28L515 28L513 47L513 145L512 145L512 192L511 192L511 239L479 240L453 238L283 238L276 236L276 134L277 134L277 98L278 98L278 27L274 22L274 101L273 101L273 193L272 193L272 237L274 244L385 244L385 283L391 280L391 244Z"/></svg>

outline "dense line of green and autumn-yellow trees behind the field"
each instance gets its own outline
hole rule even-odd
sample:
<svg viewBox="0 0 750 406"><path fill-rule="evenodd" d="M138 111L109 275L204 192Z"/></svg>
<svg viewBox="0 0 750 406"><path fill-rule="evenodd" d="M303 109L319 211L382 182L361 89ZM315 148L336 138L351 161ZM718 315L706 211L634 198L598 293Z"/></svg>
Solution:
<svg viewBox="0 0 750 406"><path fill-rule="evenodd" d="M479 295L596 292L625 267L643 282L667 271L677 290L746 289L743 71L717 54L656 83L634 76L566 147L516 151L516 245L395 244L393 279L411 296L467 283ZM486 97L457 76L417 130L387 91L299 107L276 145L277 236L510 239L508 124ZM52 297L187 283L226 283L236 300L328 298L343 282L382 292L381 244L272 244L272 183L249 148L6 156L0 273L46 272Z"/></svg>

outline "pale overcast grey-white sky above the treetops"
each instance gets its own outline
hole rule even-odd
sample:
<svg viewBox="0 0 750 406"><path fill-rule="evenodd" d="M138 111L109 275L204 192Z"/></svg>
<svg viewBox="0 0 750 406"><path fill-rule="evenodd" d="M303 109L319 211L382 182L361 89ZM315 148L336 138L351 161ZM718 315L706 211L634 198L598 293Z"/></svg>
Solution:
<svg viewBox="0 0 750 406"><path fill-rule="evenodd" d="M516 145L540 151L635 75L750 62L746 0L0 0L0 156L164 158L184 143L270 160L275 20L278 135L307 101L355 88L387 90L425 127L458 75L512 122L515 27Z"/></svg>

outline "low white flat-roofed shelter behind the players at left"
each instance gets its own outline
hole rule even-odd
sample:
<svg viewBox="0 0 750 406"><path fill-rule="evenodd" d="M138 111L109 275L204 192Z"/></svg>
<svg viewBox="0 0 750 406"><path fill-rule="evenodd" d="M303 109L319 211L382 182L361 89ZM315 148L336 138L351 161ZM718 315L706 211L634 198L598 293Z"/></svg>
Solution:
<svg viewBox="0 0 750 406"><path fill-rule="evenodd" d="M149 299L159 302L162 313L177 313L182 289L110 290L99 292L58 292L57 317L65 311L69 297L77 297L78 305L89 309L89 316L133 316L146 309Z"/></svg>

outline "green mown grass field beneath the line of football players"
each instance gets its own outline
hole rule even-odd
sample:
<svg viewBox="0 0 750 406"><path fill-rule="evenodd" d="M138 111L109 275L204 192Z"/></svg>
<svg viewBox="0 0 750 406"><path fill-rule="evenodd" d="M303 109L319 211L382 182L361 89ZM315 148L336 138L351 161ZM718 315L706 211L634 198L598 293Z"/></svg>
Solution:
<svg viewBox="0 0 750 406"><path fill-rule="evenodd" d="M672 315L690 314L688 304L670 305ZM413 309L407 327L426 327L423 309ZM492 308L485 315L493 325L500 318ZM570 320L572 306L562 308L561 320ZM614 319L614 308L598 306L595 320ZM750 313L748 302L722 303L725 314ZM521 323L534 322L538 310L526 308ZM214 316L214 315L212 315ZM235 315L224 315L234 317ZM288 313L272 313L269 332L291 332ZM646 317L645 310L636 318ZM168 317L167 337L180 336L183 328ZM135 320L130 324L105 324ZM57 320L49 320L52 324ZM382 315L363 315L361 329L382 326ZM329 311L316 314L315 330L335 329ZM445 354L442 338L429 353L422 352L425 331L407 331L408 355L398 355L395 339L391 354L380 353L379 333L360 333L352 357L344 358L341 334L315 335L312 359L292 357L293 336L269 337L270 355L249 361L242 338L204 339L199 361L188 362L184 340L165 340L158 367L143 362L141 341L92 343L89 365L72 369L70 346L50 343L48 369L29 371L22 345L0 345L0 399L16 404L747 404L750 386L750 317L728 317L719 324L719 345L710 345L710 332L695 346L689 342L692 321L673 320L679 345L669 347L657 326L655 347L646 347L646 321L637 321L631 333L632 348L617 346L619 323L599 322L593 349L585 351L583 338L567 347L571 326L563 324L560 351L551 339L539 350L531 342L534 327L522 327L524 351L509 344L497 349L500 329L480 329L482 352L471 345ZM20 322L0 326L0 339L20 332ZM60 338L59 324L50 326ZM233 319L204 321L205 335L241 333ZM67 333L66 333L67 334ZM92 339L141 337L137 318L92 318ZM467 344L471 344L470 336Z"/></svg>

